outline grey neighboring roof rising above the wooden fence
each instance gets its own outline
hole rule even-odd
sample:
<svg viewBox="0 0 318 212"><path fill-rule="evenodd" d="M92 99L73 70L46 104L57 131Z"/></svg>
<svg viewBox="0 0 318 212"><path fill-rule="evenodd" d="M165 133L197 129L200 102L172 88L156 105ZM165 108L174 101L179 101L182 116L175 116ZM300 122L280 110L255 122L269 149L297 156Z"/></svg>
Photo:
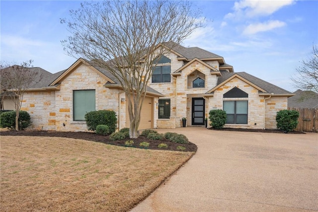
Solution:
<svg viewBox="0 0 318 212"><path fill-rule="evenodd" d="M288 98L288 107L318 108L318 94L312 91L297 90Z"/></svg>

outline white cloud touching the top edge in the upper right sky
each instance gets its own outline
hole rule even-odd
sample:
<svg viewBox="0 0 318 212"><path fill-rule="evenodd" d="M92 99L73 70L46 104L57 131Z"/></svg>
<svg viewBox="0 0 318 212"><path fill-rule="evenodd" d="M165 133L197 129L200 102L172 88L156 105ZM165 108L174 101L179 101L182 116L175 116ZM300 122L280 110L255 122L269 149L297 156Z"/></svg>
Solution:
<svg viewBox="0 0 318 212"><path fill-rule="evenodd" d="M295 0L240 0L234 3L234 12L228 13L226 18L266 16L294 2Z"/></svg>

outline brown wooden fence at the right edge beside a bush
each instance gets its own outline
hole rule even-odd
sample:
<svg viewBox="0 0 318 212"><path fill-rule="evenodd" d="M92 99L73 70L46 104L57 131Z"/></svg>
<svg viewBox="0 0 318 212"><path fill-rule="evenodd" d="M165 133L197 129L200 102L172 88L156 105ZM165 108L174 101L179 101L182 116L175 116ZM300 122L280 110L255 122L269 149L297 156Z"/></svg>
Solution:
<svg viewBox="0 0 318 212"><path fill-rule="evenodd" d="M299 112L298 126L295 130L318 132L318 108L288 107L288 109Z"/></svg>

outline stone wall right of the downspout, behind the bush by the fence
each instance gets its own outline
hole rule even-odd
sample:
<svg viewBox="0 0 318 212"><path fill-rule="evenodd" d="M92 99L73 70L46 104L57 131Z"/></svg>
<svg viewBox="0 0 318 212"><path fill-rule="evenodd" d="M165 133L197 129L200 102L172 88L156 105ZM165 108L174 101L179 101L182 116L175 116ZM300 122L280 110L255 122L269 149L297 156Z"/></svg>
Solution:
<svg viewBox="0 0 318 212"><path fill-rule="evenodd" d="M276 114L279 110L287 109L287 97L271 97L265 104L265 128L276 129Z"/></svg>

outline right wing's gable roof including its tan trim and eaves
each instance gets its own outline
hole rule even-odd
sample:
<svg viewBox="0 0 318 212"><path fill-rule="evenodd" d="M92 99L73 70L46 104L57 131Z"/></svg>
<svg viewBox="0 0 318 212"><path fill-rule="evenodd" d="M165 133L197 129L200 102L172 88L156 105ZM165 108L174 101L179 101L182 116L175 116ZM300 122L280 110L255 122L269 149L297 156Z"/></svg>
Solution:
<svg viewBox="0 0 318 212"><path fill-rule="evenodd" d="M286 91L278 86L275 86L271 83L268 83L264 80L261 80L257 77L254 77L246 72L236 72L236 73L229 73L227 71L221 71L222 76L218 78L218 84L215 88L210 90L207 93L211 93L219 88L221 85L224 85L234 77L239 77L240 79L244 80L246 83L250 84L251 86L255 87L259 90L260 95L272 95L272 96L294 96L289 91Z"/></svg>

